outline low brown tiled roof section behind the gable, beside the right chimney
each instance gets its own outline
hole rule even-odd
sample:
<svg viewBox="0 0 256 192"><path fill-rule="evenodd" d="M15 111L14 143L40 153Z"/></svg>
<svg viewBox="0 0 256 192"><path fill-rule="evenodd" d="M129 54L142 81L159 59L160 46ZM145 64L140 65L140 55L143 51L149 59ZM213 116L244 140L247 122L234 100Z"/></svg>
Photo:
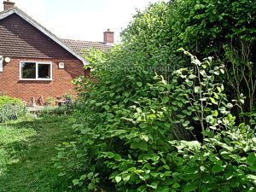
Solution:
<svg viewBox="0 0 256 192"><path fill-rule="evenodd" d="M108 51L113 47L113 44L106 44L102 42L80 41L80 40L73 40L73 39L61 39L61 40L63 41L64 44L67 44L79 55L87 54L91 48L99 49L102 51Z"/></svg>

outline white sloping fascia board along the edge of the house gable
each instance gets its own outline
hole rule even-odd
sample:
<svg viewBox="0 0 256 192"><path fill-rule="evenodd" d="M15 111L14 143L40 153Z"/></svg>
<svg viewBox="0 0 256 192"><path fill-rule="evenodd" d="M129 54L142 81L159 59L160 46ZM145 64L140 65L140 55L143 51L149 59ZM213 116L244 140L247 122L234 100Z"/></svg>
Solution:
<svg viewBox="0 0 256 192"><path fill-rule="evenodd" d="M8 17L9 15L17 14L22 19L26 20L28 23L30 23L32 26L36 27L40 32L43 32L44 35L51 38L55 43L61 45L62 48L66 49L69 53L77 57L80 61L83 62L84 66L90 65L89 61L86 61L81 55L76 53L73 49L71 49L67 44L64 44L59 38L57 38L53 33L49 32L44 26L41 26L36 20L33 20L30 16L26 15L22 10L15 7L14 9L10 9L9 11L5 11L0 13L0 20L3 20L4 18Z"/></svg>

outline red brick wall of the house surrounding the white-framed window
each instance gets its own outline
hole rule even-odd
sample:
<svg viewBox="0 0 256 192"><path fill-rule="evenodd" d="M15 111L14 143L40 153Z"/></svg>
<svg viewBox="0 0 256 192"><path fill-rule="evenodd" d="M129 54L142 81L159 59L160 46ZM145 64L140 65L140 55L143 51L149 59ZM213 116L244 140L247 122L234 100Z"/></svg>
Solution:
<svg viewBox="0 0 256 192"><path fill-rule="evenodd" d="M51 61L53 62L52 81L24 81L20 80L20 61ZM58 63L65 62L65 69L59 69ZM79 75L84 75L83 63L79 60L56 60L56 59L31 59L11 58L8 64L3 66L3 73L0 73L0 94L19 97L30 102L34 96L36 100L40 96L63 96L67 91L73 90L71 80Z"/></svg>

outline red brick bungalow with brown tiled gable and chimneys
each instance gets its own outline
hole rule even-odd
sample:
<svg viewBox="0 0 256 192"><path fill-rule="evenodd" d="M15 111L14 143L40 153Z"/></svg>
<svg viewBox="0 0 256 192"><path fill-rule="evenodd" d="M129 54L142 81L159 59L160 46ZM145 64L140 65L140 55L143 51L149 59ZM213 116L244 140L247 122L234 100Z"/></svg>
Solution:
<svg viewBox="0 0 256 192"><path fill-rule="evenodd" d="M84 75L88 65L82 49L108 50L113 32L104 32L104 42L57 38L44 26L15 7L3 2L0 12L0 94L26 102L43 96L73 92L72 79ZM74 93L74 92L73 92Z"/></svg>

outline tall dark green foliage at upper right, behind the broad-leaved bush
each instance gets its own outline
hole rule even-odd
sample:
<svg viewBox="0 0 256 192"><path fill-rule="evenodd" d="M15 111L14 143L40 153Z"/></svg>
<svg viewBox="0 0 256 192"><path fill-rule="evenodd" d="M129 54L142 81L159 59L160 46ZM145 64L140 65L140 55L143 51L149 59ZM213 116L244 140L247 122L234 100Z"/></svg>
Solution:
<svg viewBox="0 0 256 192"><path fill-rule="evenodd" d="M199 59L214 56L225 64L227 76L224 81L230 99L239 100L239 92L250 98L241 107L243 112L248 112L255 105L252 100L256 97L255 20L256 2L250 0L186 0L152 4L145 11L138 12L123 32L124 51L134 59L125 64L139 64L149 73L160 73L169 81L172 77L167 72L189 63L177 53L177 49L189 50ZM230 46L231 52L227 49ZM235 73L234 66L237 67ZM241 72L245 74L242 79ZM247 82L250 77L251 82ZM241 79L241 82L236 79ZM239 108L237 110L237 114L241 113Z"/></svg>

